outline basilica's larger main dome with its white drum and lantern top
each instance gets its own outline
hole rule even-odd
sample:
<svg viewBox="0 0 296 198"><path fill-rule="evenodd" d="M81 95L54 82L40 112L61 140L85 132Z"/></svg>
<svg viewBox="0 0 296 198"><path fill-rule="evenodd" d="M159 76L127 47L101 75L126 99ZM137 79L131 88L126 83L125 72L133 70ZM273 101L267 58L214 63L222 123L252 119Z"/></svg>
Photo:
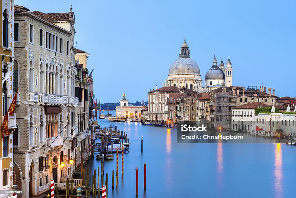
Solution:
<svg viewBox="0 0 296 198"><path fill-rule="evenodd" d="M197 63L190 58L190 51L185 38L179 52L179 58L170 66L168 78L163 86L186 87L196 92L202 87L200 68Z"/></svg>

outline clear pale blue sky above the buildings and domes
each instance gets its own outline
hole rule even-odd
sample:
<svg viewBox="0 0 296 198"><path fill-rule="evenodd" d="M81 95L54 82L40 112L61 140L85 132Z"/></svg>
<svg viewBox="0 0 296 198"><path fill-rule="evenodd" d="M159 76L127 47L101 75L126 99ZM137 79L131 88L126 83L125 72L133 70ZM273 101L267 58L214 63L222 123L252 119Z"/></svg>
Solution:
<svg viewBox="0 0 296 198"><path fill-rule="evenodd" d="M123 93L147 100L161 87L181 44L204 79L213 56L232 62L233 85L263 85L296 97L296 1L23 1L31 11L75 13L77 48L90 54L101 102ZM203 81L204 85L204 81ZM279 94L278 94L279 91Z"/></svg>

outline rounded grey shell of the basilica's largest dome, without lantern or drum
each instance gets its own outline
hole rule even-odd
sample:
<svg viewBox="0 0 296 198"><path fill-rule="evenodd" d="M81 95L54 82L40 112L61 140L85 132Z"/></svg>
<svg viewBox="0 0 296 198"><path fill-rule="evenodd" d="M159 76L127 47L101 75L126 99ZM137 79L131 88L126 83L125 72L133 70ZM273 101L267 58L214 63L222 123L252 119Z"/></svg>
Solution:
<svg viewBox="0 0 296 198"><path fill-rule="evenodd" d="M170 66L168 74L198 74L200 75L200 68L197 63L191 58L178 58Z"/></svg>

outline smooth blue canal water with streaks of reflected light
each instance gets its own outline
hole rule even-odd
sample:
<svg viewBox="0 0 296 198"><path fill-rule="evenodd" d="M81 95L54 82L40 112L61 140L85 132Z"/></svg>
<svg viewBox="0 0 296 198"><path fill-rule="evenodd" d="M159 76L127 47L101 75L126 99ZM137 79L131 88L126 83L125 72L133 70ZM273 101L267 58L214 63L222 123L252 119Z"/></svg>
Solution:
<svg viewBox="0 0 296 198"><path fill-rule="evenodd" d="M123 176L119 154L119 182L113 190L112 170L116 172L116 153L113 160L105 162L104 172L105 175L108 173L109 180L107 197L136 197L136 167L139 169L138 197L295 195L296 146L276 143L180 144L177 143L176 129L106 119L99 119L99 124L101 127L116 125L128 134L131 142L130 152L124 154ZM146 190L143 190L144 162L147 164ZM94 169L101 167L100 163L101 160L95 157L84 168L89 167L92 175Z"/></svg>

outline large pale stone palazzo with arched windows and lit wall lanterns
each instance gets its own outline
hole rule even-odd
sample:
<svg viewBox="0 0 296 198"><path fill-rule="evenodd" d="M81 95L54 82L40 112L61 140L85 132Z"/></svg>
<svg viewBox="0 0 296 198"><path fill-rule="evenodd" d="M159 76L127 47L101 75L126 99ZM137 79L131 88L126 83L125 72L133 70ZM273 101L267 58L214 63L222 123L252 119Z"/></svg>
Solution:
<svg viewBox="0 0 296 198"><path fill-rule="evenodd" d="M75 16L14 6L14 89L19 85L14 132L14 178L22 197L69 178L75 165ZM65 162L65 164L61 163ZM65 165L65 166L64 166Z"/></svg>

